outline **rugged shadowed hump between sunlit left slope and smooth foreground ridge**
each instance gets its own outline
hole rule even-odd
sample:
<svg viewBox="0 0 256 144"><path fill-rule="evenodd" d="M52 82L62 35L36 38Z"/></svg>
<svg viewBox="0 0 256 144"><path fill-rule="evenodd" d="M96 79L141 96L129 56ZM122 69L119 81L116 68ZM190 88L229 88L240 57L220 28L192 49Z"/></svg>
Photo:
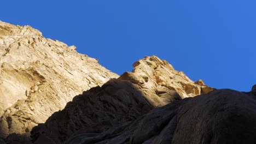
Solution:
<svg viewBox="0 0 256 144"><path fill-rule="evenodd" d="M33 143L63 143L74 134L94 136L113 128L119 129L113 133L119 133L125 129L124 125L131 124L152 109L137 85L112 79L102 87L91 88L74 97L65 109L34 127L31 139Z"/></svg>

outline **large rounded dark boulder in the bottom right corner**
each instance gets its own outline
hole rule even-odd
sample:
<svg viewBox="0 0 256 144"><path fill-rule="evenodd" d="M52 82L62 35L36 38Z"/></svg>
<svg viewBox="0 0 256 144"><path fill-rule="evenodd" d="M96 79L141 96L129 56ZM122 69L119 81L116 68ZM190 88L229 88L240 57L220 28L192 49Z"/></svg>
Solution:
<svg viewBox="0 0 256 144"><path fill-rule="evenodd" d="M181 105L177 117L172 143L256 143L256 100L241 92L200 95Z"/></svg>

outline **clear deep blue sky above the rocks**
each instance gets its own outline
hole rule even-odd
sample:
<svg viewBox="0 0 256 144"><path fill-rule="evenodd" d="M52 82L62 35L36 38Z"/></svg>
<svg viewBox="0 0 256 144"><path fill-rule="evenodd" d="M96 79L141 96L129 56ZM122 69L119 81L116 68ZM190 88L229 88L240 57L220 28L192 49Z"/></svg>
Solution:
<svg viewBox="0 0 256 144"><path fill-rule="evenodd" d="M190 79L250 91L256 83L256 1L2 1L0 20L46 38L118 73L144 56L166 59Z"/></svg>

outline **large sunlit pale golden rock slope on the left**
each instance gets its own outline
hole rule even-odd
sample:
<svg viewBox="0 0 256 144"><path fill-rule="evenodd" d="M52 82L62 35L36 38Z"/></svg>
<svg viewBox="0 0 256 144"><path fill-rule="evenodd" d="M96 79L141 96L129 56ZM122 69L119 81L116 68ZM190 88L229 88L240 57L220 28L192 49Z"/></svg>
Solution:
<svg viewBox="0 0 256 144"><path fill-rule="evenodd" d="M35 125L75 95L114 77L75 46L46 39L30 26L0 21L0 137L30 136Z"/></svg>

